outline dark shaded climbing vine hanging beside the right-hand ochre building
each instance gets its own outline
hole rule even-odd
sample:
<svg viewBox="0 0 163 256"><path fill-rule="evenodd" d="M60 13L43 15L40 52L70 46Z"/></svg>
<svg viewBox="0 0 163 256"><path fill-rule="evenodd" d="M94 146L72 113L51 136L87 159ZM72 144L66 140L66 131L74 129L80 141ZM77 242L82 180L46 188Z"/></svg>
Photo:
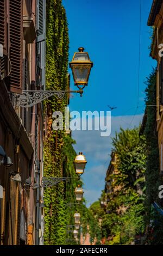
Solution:
<svg viewBox="0 0 163 256"><path fill-rule="evenodd" d="M147 141L147 167L146 167L146 224L149 245L162 244L163 225L162 217L153 208L154 201L159 202L158 188L161 185L159 175L159 148L158 133L156 131L156 70L152 70L146 81L146 116L145 136ZM153 107L150 107L153 106Z"/></svg>

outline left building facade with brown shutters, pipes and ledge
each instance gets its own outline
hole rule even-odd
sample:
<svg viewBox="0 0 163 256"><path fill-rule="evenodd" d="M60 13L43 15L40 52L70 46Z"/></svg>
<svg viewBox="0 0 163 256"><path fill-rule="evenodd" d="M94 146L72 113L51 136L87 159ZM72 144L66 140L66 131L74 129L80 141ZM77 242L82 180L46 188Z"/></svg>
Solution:
<svg viewBox="0 0 163 256"><path fill-rule="evenodd" d="M20 107L16 96L45 89L45 0L0 8L0 145L13 163L0 166L1 245L42 244L43 106Z"/></svg>

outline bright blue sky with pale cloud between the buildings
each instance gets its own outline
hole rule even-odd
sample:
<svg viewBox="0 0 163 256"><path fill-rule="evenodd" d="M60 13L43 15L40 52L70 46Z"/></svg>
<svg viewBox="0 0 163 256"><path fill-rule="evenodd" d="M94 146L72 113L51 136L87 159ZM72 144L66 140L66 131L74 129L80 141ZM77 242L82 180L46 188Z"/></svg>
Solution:
<svg viewBox="0 0 163 256"><path fill-rule="evenodd" d="M111 136L120 126L139 125L144 110L146 77L155 66L149 57L151 28L147 26L152 0L142 0L139 108L137 84L139 65L140 1L130 0L62 0L66 9L70 36L70 61L78 47L89 52L93 62L89 85L83 97L74 94L71 111L109 111L107 105L116 106L111 112ZM71 74L71 70L70 70ZM71 76L71 89L73 80ZM83 150L87 158L83 175L87 205L97 200L104 189L104 178L110 161L111 136L101 137L95 131L74 131L77 151Z"/></svg>

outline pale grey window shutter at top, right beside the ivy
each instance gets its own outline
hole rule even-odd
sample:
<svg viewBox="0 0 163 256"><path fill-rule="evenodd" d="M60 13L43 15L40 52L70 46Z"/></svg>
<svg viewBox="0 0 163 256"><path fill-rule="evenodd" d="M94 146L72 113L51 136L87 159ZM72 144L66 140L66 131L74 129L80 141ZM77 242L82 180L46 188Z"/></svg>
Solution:
<svg viewBox="0 0 163 256"><path fill-rule="evenodd" d="M37 42L45 41L46 0L37 0Z"/></svg>

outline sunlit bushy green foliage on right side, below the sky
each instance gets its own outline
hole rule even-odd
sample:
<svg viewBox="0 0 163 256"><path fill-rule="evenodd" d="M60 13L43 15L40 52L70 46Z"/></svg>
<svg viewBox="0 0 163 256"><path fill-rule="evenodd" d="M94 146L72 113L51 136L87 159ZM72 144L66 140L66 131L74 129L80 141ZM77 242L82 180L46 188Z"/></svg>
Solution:
<svg viewBox="0 0 163 256"><path fill-rule="evenodd" d="M146 140L139 127L116 133L112 140L116 155L116 172L106 176L110 192L102 193L105 202L102 236L105 245L130 245L145 233L143 206L145 191Z"/></svg>

